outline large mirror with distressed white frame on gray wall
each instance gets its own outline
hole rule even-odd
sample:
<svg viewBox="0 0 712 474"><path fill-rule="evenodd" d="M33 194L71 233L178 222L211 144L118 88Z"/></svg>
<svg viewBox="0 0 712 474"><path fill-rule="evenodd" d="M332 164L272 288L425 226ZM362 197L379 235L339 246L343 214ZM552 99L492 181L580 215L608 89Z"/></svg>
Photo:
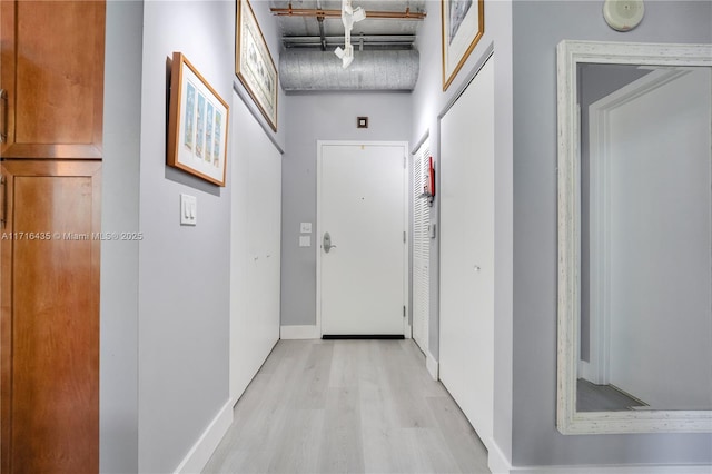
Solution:
<svg viewBox="0 0 712 474"><path fill-rule="evenodd" d="M557 48L563 434L712 432L712 45Z"/></svg>

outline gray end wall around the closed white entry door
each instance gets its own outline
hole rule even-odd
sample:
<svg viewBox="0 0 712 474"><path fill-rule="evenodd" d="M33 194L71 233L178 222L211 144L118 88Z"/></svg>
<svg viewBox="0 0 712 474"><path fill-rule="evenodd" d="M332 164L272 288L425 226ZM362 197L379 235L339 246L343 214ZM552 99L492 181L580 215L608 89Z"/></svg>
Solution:
<svg viewBox="0 0 712 474"><path fill-rule="evenodd" d="M322 92L287 95L281 170L281 325L316 324L317 140L407 141L411 95ZM368 128L357 129L356 117ZM299 247L299 223L312 223L312 247Z"/></svg>

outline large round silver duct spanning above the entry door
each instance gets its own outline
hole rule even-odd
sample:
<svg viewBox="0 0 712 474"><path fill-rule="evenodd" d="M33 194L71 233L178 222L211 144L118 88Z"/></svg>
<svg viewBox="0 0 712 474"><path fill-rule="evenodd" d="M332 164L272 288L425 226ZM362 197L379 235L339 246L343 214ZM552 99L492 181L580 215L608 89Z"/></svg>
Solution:
<svg viewBox="0 0 712 474"><path fill-rule="evenodd" d="M413 90L418 79L417 50L356 51L348 69L330 51L287 49L279 55L285 91Z"/></svg>

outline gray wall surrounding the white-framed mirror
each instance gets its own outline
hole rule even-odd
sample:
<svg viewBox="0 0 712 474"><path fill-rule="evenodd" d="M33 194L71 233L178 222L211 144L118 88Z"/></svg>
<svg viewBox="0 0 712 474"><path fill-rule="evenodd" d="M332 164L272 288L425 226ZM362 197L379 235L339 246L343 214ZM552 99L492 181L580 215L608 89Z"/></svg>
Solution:
<svg viewBox="0 0 712 474"><path fill-rule="evenodd" d="M563 436L556 408L556 45L711 42L712 3L645 2L635 30L600 1L516 1L514 42L514 465L711 463L710 434ZM553 20L555 19L555 20Z"/></svg>

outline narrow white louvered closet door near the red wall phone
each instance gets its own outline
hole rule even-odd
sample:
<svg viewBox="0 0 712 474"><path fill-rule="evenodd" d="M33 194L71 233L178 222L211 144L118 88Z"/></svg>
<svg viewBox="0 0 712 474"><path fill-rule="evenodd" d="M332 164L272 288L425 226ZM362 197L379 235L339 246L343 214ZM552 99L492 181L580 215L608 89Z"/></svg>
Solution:
<svg viewBox="0 0 712 474"><path fill-rule="evenodd" d="M429 156L429 140L425 140L413 162L413 338L425 353L428 350L431 306L431 207L422 195L428 179Z"/></svg>

